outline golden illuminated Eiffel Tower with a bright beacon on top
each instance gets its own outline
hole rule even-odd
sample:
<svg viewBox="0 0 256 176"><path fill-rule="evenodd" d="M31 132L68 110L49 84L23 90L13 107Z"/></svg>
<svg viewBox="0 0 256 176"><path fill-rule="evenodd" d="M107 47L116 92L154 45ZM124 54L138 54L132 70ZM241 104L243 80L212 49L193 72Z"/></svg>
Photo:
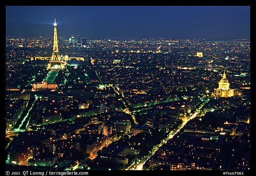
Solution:
<svg viewBox="0 0 256 176"><path fill-rule="evenodd" d="M48 63L47 70L49 70L52 65L60 65L60 68L63 70L65 66L63 65L62 61L60 60L60 52L58 48L58 39L57 39L57 24L56 19L54 20L54 39L53 39L53 51L50 63Z"/></svg>

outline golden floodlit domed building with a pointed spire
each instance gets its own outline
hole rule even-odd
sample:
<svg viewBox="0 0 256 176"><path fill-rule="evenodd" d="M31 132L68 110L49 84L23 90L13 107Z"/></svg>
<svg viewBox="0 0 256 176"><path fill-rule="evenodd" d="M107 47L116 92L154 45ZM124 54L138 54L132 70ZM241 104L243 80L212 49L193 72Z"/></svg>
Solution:
<svg viewBox="0 0 256 176"><path fill-rule="evenodd" d="M228 98L237 95L239 89L230 89L229 85L230 83L228 82L224 71L223 78L219 81L219 88L214 90L214 96L216 98Z"/></svg>

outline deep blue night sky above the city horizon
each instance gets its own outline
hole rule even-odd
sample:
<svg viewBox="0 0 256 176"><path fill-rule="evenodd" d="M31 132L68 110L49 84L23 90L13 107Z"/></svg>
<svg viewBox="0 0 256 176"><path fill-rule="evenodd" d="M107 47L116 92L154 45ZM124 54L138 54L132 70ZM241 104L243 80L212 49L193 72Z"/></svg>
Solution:
<svg viewBox="0 0 256 176"><path fill-rule="evenodd" d="M250 6L6 6L6 36L249 39Z"/></svg>

